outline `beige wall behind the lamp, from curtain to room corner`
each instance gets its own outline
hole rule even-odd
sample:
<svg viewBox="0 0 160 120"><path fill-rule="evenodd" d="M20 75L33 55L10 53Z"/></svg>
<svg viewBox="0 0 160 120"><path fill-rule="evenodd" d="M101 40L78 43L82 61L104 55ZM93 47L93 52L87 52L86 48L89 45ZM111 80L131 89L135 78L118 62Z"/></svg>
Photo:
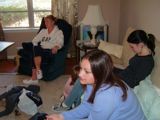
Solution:
<svg viewBox="0 0 160 120"><path fill-rule="evenodd" d="M106 22L109 23L109 41L117 42L119 38L120 0L79 0L78 17L83 19L88 5L99 4Z"/></svg>

